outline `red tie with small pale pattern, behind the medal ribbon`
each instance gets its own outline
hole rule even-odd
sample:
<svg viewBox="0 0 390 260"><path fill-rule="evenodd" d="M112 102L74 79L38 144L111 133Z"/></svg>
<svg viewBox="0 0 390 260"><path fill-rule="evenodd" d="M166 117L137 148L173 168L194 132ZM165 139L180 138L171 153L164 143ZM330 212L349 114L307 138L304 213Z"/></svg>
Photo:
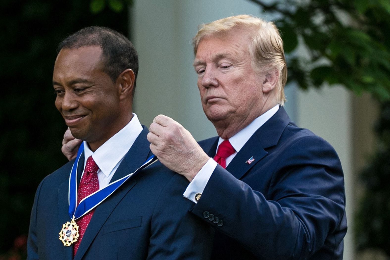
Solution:
<svg viewBox="0 0 390 260"><path fill-rule="evenodd" d="M99 167L92 158L88 157L87 163L85 164L84 174L80 180L80 185L78 185L77 191L77 205L80 201L87 197L89 194L99 190L99 180L97 179L97 170ZM91 210L87 214L83 215L80 219L76 220L78 224L78 234L80 237L74 243L73 256L76 255L78 246L83 238L84 232L87 229L88 223L91 220L92 215L94 214L95 209Z"/></svg>

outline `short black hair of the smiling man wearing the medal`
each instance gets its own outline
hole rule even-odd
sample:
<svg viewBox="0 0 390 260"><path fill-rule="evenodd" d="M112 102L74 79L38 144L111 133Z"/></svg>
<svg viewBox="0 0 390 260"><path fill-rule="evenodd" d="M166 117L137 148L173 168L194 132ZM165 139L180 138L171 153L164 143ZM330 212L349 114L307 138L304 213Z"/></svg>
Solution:
<svg viewBox="0 0 390 260"><path fill-rule="evenodd" d="M134 71L134 86L138 74L138 54L131 41L123 34L107 27L85 27L66 37L57 48L77 49L85 46L99 46L102 50L103 71L115 82L125 69Z"/></svg>

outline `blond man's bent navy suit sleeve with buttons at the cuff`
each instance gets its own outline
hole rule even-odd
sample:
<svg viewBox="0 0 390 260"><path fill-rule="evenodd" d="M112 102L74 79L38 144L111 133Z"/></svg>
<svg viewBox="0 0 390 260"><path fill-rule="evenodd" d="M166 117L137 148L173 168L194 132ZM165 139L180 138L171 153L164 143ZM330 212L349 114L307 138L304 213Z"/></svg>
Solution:
<svg viewBox="0 0 390 260"><path fill-rule="evenodd" d="M259 259L307 259L343 218L340 161L332 146L317 136L301 137L280 154L266 194L218 165L191 212ZM262 173L255 165L246 178L262 178ZM210 214L220 223L210 221Z"/></svg>

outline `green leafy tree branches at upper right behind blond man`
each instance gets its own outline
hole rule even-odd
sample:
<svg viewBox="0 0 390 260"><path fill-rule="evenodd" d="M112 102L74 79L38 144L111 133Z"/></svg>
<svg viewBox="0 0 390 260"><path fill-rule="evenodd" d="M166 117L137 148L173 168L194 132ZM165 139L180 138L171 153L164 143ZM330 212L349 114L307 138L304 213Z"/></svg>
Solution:
<svg viewBox="0 0 390 260"><path fill-rule="evenodd" d="M251 1L280 17L289 81L302 89L343 84L390 100L390 1ZM307 55L297 55L298 43Z"/></svg>

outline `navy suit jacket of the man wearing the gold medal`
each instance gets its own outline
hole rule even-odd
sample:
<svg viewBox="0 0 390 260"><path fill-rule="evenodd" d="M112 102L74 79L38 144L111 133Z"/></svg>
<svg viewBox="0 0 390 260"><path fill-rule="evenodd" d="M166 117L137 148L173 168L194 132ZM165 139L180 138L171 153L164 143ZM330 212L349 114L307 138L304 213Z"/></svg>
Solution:
<svg viewBox="0 0 390 260"><path fill-rule="evenodd" d="M111 182L135 171L151 155L147 133L144 127ZM72 165L73 160L39 184L31 213L28 259L72 259L73 246L64 246L58 239L62 224L70 221ZM186 178L159 162L132 176L96 207L74 260L209 259L212 228L188 211L193 203L183 197L187 185Z"/></svg>

